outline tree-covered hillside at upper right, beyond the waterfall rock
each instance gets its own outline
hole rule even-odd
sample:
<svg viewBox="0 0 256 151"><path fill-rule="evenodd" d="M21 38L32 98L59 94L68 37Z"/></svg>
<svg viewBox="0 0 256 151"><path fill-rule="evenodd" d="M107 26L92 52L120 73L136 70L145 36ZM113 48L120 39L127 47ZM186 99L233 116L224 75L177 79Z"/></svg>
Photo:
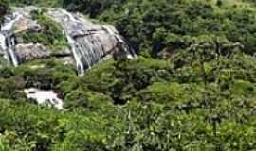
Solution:
<svg viewBox="0 0 256 151"><path fill-rule="evenodd" d="M100 19L114 23L141 54L149 50L153 56L161 51L172 54L202 34L223 35L254 53L254 13L255 6L247 1L223 1L220 5L214 0L130 0L107 9Z"/></svg>

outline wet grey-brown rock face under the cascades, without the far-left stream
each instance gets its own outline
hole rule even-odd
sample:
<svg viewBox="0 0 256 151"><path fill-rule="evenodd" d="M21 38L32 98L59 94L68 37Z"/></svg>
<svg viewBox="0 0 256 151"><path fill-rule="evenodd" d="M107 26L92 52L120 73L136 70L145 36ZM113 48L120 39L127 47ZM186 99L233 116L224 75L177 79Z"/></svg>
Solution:
<svg viewBox="0 0 256 151"><path fill-rule="evenodd" d="M35 9L43 8L13 8L13 14L18 14L18 19L11 26L9 32L15 38L14 54L19 63L33 59L58 57L68 60L66 62L76 64L78 73L82 75L85 70L90 69L101 60L113 57L113 54L117 55L121 52L122 56L136 57L136 54L113 26L94 24L81 14L70 13L61 8L44 8L44 13L61 25L69 48L56 53L40 43L25 44L21 38L15 37L15 35L21 32L40 32L42 30L42 26L34 21L30 14ZM4 44L0 43L0 46L2 45ZM2 46L0 52L5 54L7 52L5 49L7 48ZM117 53L117 51L120 52Z"/></svg>

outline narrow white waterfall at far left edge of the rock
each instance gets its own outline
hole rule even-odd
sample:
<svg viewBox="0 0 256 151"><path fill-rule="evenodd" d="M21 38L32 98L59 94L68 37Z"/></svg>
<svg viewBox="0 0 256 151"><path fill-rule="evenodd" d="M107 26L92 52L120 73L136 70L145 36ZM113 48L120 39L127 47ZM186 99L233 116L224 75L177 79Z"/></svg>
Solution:
<svg viewBox="0 0 256 151"><path fill-rule="evenodd" d="M20 19L20 15L18 14L11 14L6 16L4 24L1 27L0 31L0 46L1 51L4 52L4 57L9 59L11 63L16 67L18 66L19 62L14 52L15 47L15 40L12 36L12 27L16 21Z"/></svg>

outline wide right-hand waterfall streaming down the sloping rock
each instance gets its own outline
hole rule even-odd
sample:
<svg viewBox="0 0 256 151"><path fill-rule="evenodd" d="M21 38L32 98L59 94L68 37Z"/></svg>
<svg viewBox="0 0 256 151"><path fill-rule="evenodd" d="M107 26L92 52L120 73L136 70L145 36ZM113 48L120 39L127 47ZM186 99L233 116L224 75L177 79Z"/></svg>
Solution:
<svg viewBox="0 0 256 151"><path fill-rule="evenodd" d="M111 55L119 42L125 47L127 58L134 57L133 50L111 25L94 24L84 16L64 9L51 9L47 16L62 25L80 75Z"/></svg>

